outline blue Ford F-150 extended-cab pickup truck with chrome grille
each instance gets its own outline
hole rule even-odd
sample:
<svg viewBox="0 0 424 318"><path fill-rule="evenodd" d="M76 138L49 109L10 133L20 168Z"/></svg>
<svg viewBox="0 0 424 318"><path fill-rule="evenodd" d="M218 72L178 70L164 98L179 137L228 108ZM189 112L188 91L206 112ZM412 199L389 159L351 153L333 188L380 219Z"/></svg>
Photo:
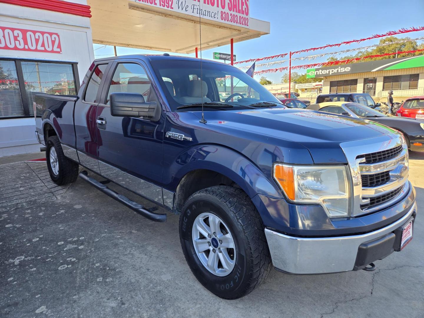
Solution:
<svg viewBox="0 0 424 318"><path fill-rule="evenodd" d="M220 297L250 293L271 262L292 274L373 270L412 238L402 135L288 109L236 67L98 59L78 95L38 95L34 110L53 181L75 181L81 165L106 180L82 179L139 214L166 220L107 182L179 214L187 263Z"/></svg>

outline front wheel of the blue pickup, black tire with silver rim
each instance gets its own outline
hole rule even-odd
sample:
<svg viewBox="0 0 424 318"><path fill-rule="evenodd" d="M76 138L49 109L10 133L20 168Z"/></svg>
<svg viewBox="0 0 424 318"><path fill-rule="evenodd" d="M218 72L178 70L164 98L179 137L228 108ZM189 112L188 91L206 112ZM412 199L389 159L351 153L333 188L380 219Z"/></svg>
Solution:
<svg viewBox="0 0 424 318"><path fill-rule="evenodd" d="M264 225L241 189L216 186L195 192L184 204L179 228L192 273L221 298L247 295L271 270Z"/></svg>

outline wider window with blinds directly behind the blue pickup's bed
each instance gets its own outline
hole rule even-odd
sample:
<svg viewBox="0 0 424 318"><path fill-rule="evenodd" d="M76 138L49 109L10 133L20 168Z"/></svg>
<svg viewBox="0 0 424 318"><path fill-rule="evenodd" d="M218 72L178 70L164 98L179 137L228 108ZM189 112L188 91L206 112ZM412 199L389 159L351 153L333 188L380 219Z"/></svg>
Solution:
<svg viewBox="0 0 424 318"><path fill-rule="evenodd" d="M35 94L77 94L72 64L22 61L21 65L31 115Z"/></svg>

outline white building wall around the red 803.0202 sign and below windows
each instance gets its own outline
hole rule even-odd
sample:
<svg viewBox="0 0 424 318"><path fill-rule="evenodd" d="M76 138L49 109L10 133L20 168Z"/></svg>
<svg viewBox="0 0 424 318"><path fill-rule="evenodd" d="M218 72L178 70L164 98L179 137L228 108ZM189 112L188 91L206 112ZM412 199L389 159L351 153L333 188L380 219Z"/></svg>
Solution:
<svg viewBox="0 0 424 318"><path fill-rule="evenodd" d="M59 33L62 49L61 54L0 49L0 57L77 62L80 83L95 59L88 17L0 3L0 26ZM34 131L34 118L0 119L0 156L39 151Z"/></svg>

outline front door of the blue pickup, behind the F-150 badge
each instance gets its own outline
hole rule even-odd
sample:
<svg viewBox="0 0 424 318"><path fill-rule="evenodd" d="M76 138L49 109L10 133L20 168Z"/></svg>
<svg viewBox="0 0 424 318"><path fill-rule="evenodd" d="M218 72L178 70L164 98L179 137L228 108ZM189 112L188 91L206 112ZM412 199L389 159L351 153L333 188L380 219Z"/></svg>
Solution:
<svg viewBox="0 0 424 318"><path fill-rule="evenodd" d="M109 107L112 92L139 93L145 101L159 103L149 75L136 61L115 62L109 74L96 115L100 173L128 190L163 204L160 185L164 114L158 121L114 117Z"/></svg>

